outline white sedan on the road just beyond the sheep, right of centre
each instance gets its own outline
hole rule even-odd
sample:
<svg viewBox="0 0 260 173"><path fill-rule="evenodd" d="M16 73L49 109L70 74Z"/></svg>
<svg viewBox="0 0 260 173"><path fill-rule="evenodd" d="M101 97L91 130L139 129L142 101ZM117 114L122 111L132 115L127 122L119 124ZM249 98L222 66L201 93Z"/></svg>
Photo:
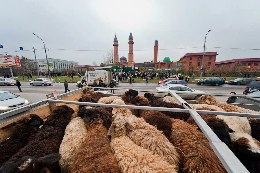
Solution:
<svg viewBox="0 0 260 173"><path fill-rule="evenodd" d="M162 87L157 87L157 88L155 88L155 90L157 90L157 91L170 91L170 90L172 90L172 91L178 91L178 95L181 97L181 98L183 98L183 99L188 99L188 100L198 100L198 98L200 97L200 96L202 96L203 95L203 93L205 93L205 92L203 92L203 91L200 91L200 90L194 90L194 89L192 89L192 88L190 88L190 87L187 87L187 86L185 86L185 85L181 85L181 84L168 84L168 85L164 85L164 86L162 86ZM195 92L195 93L201 93L201 94L199 94L199 95L197 95L197 94L189 94L189 93L191 93L191 92ZM187 94L186 94L187 93ZM161 97L161 98L163 98L163 97L165 97L165 96L167 96L168 94L167 93L159 93L159 92L155 92L155 96L156 97Z"/></svg>

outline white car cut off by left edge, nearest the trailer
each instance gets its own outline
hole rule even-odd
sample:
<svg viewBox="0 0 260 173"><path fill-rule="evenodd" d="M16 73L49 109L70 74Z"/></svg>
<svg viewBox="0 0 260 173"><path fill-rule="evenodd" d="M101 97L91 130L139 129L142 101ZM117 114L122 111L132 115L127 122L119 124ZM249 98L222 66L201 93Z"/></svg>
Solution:
<svg viewBox="0 0 260 173"><path fill-rule="evenodd" d="M29 101L8 91L0 91L0 112L10 111L29 104Z"/></svg>

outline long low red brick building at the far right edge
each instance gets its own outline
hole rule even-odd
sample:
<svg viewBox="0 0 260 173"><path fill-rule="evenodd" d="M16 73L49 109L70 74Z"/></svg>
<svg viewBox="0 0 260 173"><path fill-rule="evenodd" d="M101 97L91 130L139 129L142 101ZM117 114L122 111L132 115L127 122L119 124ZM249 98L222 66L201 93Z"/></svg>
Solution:
<svg viewBox="0 0 260 173"><path fill-rule="evenodd" d="M242 66L247 66L248 69L260 68L260 58L241 58L220 61L215 63L215 68L228 67L236 62L239 62Z"/></svg>

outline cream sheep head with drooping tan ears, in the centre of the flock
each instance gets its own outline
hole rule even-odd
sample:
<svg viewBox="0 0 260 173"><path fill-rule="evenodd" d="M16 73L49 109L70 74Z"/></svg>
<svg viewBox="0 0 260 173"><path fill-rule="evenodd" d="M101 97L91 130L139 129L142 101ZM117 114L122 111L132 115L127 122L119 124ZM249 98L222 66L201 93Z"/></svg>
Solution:
<svg viewBox="0 0 260 173"><path fill-rule="evenodd" d="M133 128L121 114L115 114L112 116L112 124L108 129L107 135L111 135L114 131L119 136L126 135L127 129L132 130Z"/></svg>

